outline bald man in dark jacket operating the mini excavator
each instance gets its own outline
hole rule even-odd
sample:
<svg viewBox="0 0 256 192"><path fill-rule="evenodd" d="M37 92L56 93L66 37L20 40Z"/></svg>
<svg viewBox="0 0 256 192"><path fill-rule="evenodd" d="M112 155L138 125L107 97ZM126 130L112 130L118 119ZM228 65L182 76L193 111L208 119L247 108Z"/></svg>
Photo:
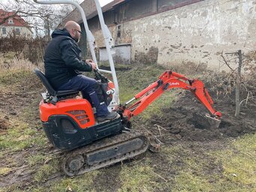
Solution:
<svg viewBox="0 0 256 192"><path fill-rule="evenodd" d="M68 21L64 29L56 29L51 36L44 53L45 75L50 84L56 90L80 90L83 98L90 100L96 108L98 121L117 117L116 112L108 111L97 81L80 73L92 72L96 64L91 59L81 60L81 49L77 44L81 38L79 24Z"/></svg>

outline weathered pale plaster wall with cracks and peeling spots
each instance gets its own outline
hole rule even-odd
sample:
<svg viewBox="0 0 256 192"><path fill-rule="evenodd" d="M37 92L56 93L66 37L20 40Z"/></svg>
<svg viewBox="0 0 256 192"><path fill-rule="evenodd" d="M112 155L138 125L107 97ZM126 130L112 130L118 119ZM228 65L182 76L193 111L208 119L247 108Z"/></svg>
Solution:
<svg viewBox="0 0 256 192"><path fill-rule="evenodd" d="M254 0L206 0L120 25L120 38L116 26L110 30L117 44L131 44L133 62L195 62L216 69L222 51L256 50Z"/></svg>

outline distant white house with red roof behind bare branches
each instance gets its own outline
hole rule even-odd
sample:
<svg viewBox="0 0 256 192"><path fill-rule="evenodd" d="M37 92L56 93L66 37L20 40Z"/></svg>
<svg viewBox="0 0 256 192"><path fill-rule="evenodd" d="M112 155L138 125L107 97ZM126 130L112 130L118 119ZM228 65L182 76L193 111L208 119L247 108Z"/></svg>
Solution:
<svg viewBox="0 0 256 192"><path fill-rule="evenodd" d="M2 23L4 20L5 23ZM32 38L33 32L31 26L29 26L22 17L16 15L15 12L8 12L0 9L0 23L2 23L0 25L0 37L7 37L8 35L15 34Z"/></svg>

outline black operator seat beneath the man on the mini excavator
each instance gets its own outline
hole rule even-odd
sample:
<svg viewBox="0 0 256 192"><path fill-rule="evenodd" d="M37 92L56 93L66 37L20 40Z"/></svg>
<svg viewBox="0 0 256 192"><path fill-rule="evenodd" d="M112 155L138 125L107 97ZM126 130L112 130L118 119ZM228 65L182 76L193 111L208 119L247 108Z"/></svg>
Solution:
<svg viewBox="0 0 256 192"><path fill-rule="evenodd" d="M34 69L34 72L36 75L38 75L38 78L40 78L41 82L44 84L44 87L47 89L47 93L42 93L44 100L50 99L50 103L53 105L64 97L77 95L79 93L79 90L54 90L43 72L41 72L38 68Z"/></svg>

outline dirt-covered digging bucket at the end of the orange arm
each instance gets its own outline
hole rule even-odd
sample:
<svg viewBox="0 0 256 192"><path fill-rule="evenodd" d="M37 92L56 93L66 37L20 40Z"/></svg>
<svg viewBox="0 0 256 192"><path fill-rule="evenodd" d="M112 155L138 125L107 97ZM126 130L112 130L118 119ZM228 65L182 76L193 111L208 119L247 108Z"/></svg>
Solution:
<svg viewBox="0 0 256 192"><path fill-rule="evenodd" d="M211 117L209 114L205 116L201 114L194 113L193 119L203 129L217 129L220 126L221 120Z"/></svg>

